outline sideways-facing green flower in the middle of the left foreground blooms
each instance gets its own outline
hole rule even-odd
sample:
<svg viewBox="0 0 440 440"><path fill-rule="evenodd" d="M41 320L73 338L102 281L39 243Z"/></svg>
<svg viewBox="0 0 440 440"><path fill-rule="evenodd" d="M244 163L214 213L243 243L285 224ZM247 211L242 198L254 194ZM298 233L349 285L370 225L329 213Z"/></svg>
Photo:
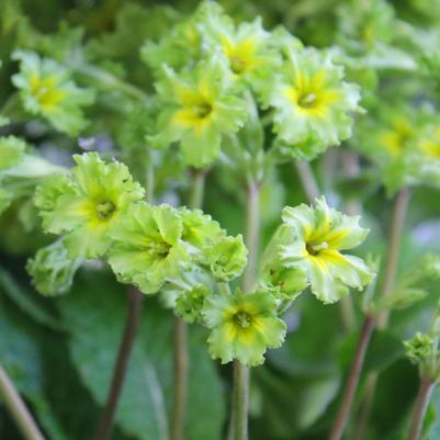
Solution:
<svg viewBox="0 0 440 440"><path fill-rule="evenodd" d="M129 282L146 294L156 293L178 277L187 262L181 241L182 221L168 205L133 204L111 233L113 246L109 263L122 282Z"/></svg>

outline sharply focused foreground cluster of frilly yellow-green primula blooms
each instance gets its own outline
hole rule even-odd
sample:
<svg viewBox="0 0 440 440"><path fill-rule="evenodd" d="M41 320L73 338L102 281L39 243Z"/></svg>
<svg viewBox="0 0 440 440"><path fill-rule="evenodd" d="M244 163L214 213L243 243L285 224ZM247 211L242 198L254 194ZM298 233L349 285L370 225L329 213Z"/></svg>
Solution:
<svg viewBox="0 0 440 440"><path fill-rule="evenodd" d="M284 208L255 291L232 291L247 263L240 235L228 236L200 210L148 204L121 162L97 153L74 159L70 172L45 179L34 198L44 229L60 236L27 264L43 294L65 293L83 259L105 257L120 282L168 293L177 315L208 327L213 358L257 365L268 348L281 346L280 316L305 289L332 303L372 280L360 258L341 252L368 230L320 199L314 207Z"/></svg>

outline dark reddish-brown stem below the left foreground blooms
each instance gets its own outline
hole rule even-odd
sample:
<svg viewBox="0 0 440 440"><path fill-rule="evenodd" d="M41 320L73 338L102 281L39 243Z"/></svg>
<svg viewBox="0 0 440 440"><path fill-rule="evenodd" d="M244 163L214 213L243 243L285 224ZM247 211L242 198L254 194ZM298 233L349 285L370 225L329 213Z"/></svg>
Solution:
<svg viewBox="0 0 440 440"><path fill-rule="evenodd" d="M113 370L112 383L109 390L104 413L94 435L94 440L109 440L113 429L117 403L124 384L129 354L135 341L137 327L140 320L142 293L134 286L128 287L128 309L125 320L124 334L117 352Z"/></svg>

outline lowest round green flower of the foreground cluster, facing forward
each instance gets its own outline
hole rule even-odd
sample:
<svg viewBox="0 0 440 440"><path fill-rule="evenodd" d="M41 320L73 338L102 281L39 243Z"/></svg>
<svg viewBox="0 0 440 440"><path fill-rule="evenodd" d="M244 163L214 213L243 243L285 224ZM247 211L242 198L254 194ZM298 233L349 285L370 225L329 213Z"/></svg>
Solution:
<svg viewBox="0 0 440 440"><path fill-rule="evenodd" d="M264 362L268 348L278 348L285 324L277 316L275 300L262 292L211 296L203 316L212 332L207 339L213 359L227 363L238 359L253 366Z"/></svg>

